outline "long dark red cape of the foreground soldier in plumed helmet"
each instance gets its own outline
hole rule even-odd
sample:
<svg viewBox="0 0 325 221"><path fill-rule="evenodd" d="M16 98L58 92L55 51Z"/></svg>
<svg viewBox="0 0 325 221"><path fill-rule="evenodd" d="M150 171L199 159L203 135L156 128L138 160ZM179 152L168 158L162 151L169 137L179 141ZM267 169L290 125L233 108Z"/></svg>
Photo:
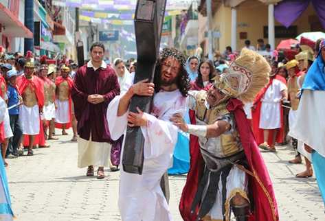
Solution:
<svg viewBox="0 0 325 221"><path fill-rule="evenodd" d="M240 100L231 99L227 104L227 110L234 113L249 170L254 174L254 176L249 176L249 192L253 194L254 199L254 211L249 221L278 221L278 207L271 179L243 110L243 103ZM188 172L179 204L179 211L185 221L194 221L197 218L195 215L197 211L191 214L190 210L204 165L198 143L190 143L190 155L190 172Z"/></svg>

